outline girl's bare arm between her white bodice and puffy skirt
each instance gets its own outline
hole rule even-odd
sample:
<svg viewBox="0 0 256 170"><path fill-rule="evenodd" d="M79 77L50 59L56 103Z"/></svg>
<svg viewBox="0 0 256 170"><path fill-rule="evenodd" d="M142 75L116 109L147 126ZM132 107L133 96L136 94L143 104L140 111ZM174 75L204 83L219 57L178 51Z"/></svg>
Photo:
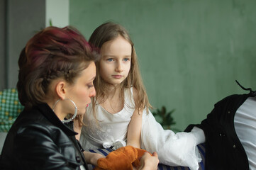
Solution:
<svg viewBox="0 0 256 170"><path fill-rule="evenodd" d="M137 96L137 91L133 88L133 96ZM127 145L140 148L140 131L143 120L143 109L133 112L127 132Z"/></svg>

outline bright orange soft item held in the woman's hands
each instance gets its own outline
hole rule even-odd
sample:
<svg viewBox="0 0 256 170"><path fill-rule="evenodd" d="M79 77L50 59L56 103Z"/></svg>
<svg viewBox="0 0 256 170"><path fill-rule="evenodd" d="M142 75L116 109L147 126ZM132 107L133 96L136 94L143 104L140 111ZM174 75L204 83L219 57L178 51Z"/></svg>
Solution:
<svg viewBox="0 0 256 170"><path fill-rule="evenodd" d="M98 159L98 166L94 170L133 170L133 166L140 166L140 157L147 152L132 146L120 147L110 152L105 158Z"/></svg>

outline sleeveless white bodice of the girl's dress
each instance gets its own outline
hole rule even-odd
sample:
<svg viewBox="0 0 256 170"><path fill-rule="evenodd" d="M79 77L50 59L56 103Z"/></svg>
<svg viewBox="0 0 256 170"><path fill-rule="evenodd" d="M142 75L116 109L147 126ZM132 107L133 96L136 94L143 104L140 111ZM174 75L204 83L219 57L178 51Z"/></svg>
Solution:
<svg viewBox="0 0 256 170"><path fill-rule="evenodd" d="M111 143L121 141L125 145L127 129L130 123L130 118L134 112L134 102L129 91L132 88L125 89L124 98L125 105L122 111L112 114L108 113L99 104L96 105L96 118L95 120L91 104L87 108L87 113L84 116L84 124L87 126L82 127L80 142L86 149L102 148L103 145L111 145Z"/></svg>

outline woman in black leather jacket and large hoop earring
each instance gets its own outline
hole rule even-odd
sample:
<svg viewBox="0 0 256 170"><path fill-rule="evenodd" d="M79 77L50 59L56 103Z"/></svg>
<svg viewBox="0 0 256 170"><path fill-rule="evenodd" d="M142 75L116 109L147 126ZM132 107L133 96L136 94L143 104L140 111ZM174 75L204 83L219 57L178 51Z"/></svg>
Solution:
<svg viewBox="0 0 256 170"><path fill-rule="evenodd" d="M18 60L18 98L25 108L6 137L0 169L96 165L102 156L83 151L73 120L95 95L98 56L74 28L48 27L28 41ZM142 166L150 159L145 155Z"/></svg>

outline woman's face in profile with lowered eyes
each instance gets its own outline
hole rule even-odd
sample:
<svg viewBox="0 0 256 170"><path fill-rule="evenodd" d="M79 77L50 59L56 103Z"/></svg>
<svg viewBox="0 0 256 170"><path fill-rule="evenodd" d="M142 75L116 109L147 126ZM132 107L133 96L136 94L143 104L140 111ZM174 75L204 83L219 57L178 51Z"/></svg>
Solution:
<svg viewBox="0 0 256 170"><path fill-rule="evenodd" d="M91 97L96 94L93 84L95 77L96 67L94 62L91 62L89 67L82 71L82 74L76 79L74 84L67 88L67 95L65 98L74 101L77 106L77 114L79 115L85 113L88 104L91 103ZM74 108L72 108L72 110L73 111L70 111L70 113L74 113Z"/></svg>

